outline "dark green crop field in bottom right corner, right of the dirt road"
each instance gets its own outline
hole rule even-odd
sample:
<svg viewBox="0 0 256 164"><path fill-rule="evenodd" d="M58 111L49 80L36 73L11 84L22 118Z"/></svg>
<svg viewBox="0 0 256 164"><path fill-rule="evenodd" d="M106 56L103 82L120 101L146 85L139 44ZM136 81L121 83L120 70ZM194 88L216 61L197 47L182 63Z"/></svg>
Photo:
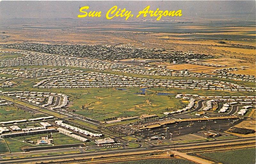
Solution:
<svg viewBox="0 0 256 164"><path fill-rule="evenodd" d="M221 152L207 152L200 155L223 164L255 164L255 148Z"/></svg>

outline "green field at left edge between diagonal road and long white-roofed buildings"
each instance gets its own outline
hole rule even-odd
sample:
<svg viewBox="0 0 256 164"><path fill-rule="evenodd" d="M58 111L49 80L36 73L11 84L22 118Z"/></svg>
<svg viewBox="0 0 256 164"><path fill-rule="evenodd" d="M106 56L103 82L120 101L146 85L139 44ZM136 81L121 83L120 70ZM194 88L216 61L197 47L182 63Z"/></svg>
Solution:
<svg viewBox="0 0 256 164"><path fill-rule="evenodd" d="M0 120L10 121L10 120L20 120L20 119L30 119L37 117L45 117L47 115L43 113L29 113L18 109L16 106L1 106L0 107Z"/></svg>

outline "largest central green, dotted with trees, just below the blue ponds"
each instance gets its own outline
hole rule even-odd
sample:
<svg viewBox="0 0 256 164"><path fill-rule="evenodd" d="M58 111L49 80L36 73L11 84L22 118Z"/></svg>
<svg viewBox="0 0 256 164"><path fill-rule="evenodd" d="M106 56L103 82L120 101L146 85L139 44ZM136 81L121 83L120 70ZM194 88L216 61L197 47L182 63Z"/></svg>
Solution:
<svg viewBox="0 0 256 164"><path fill-rule="evenodd" d="M146 95L136 94L140 92L139 88L127 90L88 89L88 92L81 94L76 99L71 108L75 109L77 114L103 121L120 116L140 116L144 113L156 113L162 116L161 113L169 111L171 107L182 108L186 105L176 99L174 95L156 95L153 92L148 94L146 92ZM88 109L82 109L82 105Z"/></svg>

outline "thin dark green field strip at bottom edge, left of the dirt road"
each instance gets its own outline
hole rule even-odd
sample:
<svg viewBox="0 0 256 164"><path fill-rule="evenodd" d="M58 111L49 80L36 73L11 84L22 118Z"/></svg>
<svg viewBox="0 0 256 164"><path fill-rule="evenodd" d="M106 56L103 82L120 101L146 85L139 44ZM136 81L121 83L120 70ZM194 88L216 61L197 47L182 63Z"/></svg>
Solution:
<svg viewBox="0 0 256 164"><path fill-rule="evenodd" d="M108 163L108 164L195 164L194 162L179 159L179 158L172 158L172 159L149 159L149 160L133 160L127 162L115 162L115 163Z"/></svg>

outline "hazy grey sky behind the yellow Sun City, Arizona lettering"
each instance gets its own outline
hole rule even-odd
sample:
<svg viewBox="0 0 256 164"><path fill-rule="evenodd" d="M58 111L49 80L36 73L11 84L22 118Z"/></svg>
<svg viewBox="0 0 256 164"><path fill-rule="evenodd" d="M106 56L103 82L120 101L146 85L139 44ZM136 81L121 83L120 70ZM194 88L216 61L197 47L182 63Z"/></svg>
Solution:
<svg viewBox="0 0 256 164"><path fill-rule="evenodd" d="M183 17L212 14L250 13L255 15L255 1L1 1L0 19L77 18L79 8L106 12L114 5L132 10L134 15L147 5L152 10L182 10ZM90 11L89 9L89 11Z"/></svg>

